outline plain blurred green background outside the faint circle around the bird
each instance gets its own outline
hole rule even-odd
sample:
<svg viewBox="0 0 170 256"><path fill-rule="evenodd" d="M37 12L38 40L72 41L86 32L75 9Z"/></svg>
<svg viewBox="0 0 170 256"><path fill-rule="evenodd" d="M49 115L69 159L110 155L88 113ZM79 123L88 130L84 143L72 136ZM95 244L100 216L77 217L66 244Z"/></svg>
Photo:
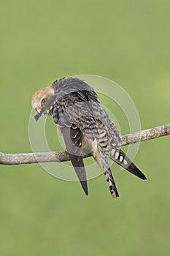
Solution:
<svg viewBox="0 0 170 256"><path fill-rule="evenodd" d="M142 129L169 123L169 13L166 0L1 1L0 151L31 152L31 95L63 76L115 80ZM169 255L169 142L140 144L135 162L147 181L115 166L118 200L103 176L85 197L38 164L1 165L0 255Z"/></svg>

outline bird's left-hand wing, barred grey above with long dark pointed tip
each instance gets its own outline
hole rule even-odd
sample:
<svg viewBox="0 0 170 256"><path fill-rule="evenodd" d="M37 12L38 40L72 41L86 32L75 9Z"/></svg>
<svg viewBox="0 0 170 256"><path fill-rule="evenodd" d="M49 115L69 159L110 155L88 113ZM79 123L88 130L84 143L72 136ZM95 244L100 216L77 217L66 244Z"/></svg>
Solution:
<svg viewBox="0 0 170 256"><path fill-rule="evenodd" d="M84 91L64 95L53 107L53 121L63 134L67 152L74 170L88 195L87 177L82 157L82 138L94 141L98 138L96 121Z"/></svg>

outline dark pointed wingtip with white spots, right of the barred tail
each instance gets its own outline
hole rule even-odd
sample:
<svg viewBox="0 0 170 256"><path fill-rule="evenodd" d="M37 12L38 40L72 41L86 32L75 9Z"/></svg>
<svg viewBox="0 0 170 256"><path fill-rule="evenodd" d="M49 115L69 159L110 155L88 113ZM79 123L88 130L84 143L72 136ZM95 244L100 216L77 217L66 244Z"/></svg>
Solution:
<svg viewBox="0 0 170 256"><path fill-rule="evenodd" d="M123 168L128 170L130 173L133 173L135 176L144 179L147 179L146 176L131 162L125 153L120 148L112 148L110 159L114 162L117 162L118 165L121 165Z"/></svg>

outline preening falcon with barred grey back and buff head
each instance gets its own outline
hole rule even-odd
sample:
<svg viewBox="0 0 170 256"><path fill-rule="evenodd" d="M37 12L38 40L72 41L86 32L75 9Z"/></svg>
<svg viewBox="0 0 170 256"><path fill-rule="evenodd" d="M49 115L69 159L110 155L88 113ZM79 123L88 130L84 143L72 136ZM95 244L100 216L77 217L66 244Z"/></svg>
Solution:
<svg viewBox="0 0 170 256"><path fill-rule="evenodd" d="M54 124L61 129L66 151L85 195L88 195L88 184L83 151L91 154L98 163L113 198L119 197L119 193L109 158L142 180L147 179L120 149L120 132L102 108L96 91L85 80L77 77L55 80L50 86L36 91L31 105L36 110L36 121L42 115L51 115Z"/></svg>

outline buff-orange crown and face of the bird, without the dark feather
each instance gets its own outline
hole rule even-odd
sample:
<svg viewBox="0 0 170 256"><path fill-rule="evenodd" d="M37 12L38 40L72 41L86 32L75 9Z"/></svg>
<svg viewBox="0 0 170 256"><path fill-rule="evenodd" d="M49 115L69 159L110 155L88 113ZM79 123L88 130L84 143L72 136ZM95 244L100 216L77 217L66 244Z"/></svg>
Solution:
<svg viewBox="0 0 170 256"><path fill-rule="evenodd" d="M32 108L34 108L38 113L42 110L42 106L45 104L46 100L53 96L54 89L51 86L45 87L32 96Z"/></svg>

